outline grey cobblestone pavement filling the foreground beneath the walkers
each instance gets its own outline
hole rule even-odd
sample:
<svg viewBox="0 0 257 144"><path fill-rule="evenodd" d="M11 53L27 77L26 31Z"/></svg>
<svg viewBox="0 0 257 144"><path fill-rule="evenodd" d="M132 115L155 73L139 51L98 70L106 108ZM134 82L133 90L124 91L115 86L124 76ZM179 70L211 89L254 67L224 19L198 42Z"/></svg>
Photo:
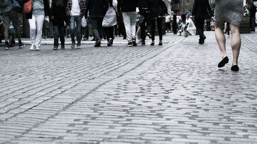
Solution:
<svg viewBox="0 0 257 144"><path fill-rule="evenodd" d="M239 72L213 32L164 46L0 47L0 143L257 143L256 33ZM149 44L148 44L149 45Z"/></svg>

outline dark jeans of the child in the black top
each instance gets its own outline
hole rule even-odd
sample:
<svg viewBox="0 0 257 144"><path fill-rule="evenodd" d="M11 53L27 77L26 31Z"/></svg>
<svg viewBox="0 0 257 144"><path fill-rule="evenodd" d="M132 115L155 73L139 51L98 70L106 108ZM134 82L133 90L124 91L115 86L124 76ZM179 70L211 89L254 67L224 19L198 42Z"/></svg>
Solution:
<svg viewBox="0 0 257 144"><path fill-rule="evenodd" d="M59 34L60 34L61 45L64 46L64 26L53 26L53 31L54 31L53 46L58 46Z"/></svg>

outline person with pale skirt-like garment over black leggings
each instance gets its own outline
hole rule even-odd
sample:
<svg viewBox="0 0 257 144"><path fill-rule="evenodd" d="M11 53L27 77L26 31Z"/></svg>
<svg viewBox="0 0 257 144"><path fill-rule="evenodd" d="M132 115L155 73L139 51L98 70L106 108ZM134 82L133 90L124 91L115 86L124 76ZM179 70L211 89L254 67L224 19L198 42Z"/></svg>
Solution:
<svg viewBox="0 0 257 144"><path fill-rule="evenodd" d="M104 31L107 37L107 46L113 46L113 39L114 39L114 26L117 24L117 16L116 16L116 9L117 9L117 0L108 0L109 1L109 8L103 18Z"/></svg>

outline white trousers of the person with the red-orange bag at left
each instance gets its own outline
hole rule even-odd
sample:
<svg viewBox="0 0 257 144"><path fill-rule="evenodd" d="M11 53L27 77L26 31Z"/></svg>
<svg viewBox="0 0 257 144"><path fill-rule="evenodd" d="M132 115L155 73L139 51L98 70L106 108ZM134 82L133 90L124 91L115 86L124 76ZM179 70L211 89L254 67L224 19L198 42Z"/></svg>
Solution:
<svg viewBox="0 0 257 144"><path fill-rule="evenodd" d="M35 45L36 47L40 47L41 45L42 28L43 28L44 19L45 19L45 15L33 15L33 14L32 14L32 18L29 19L30 41L31 41L31 45Z"/></svg>

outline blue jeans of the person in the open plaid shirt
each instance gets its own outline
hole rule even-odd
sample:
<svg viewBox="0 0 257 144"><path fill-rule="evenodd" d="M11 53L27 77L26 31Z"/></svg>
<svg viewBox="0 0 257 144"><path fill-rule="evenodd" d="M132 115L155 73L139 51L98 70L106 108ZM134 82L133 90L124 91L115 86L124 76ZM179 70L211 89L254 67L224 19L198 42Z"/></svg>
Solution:
<svg viewBox="0 0 257 144"><path fill-rule="evenodd" d="M76 24L77 41L78 41L77 45L80 45L81 43L81 21L82 21L81 19L82 17L79 15L72 15L70 17L70 23L69 23L70 37L72 42L75 42L75 24Z"/></svg>

